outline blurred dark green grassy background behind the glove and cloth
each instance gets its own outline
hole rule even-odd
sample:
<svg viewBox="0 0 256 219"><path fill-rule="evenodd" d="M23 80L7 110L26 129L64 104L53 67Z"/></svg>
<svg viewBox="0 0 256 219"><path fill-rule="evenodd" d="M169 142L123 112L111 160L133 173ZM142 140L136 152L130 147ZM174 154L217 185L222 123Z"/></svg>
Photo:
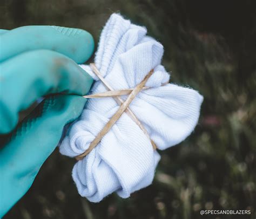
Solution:
<svg viewBox="0 0 256 219"><path fill-rule="evenodd" d="M112 194L90 203L72 181L75 160L56 149L4 218L255 218L255 3L1 0L2 29L69 26L91 32L96 42L111 13L120 12L164 45L171 82L205 97L196 130L161 152L151 186L126 200ZM251 215L200 216L206 209L251 210Z"/></svg>

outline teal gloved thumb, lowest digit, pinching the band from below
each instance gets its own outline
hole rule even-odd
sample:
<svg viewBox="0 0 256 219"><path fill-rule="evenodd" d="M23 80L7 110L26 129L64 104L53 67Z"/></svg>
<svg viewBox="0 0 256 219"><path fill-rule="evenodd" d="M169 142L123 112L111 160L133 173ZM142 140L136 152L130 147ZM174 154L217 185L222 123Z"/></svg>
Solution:
<svg viewBox="0 0 256 219"><path fill-rule="evenodd" d="M79 117L86 99L55 95L39 104L0 150L0 217L30 188L60 140L65 124Z"/></svg>

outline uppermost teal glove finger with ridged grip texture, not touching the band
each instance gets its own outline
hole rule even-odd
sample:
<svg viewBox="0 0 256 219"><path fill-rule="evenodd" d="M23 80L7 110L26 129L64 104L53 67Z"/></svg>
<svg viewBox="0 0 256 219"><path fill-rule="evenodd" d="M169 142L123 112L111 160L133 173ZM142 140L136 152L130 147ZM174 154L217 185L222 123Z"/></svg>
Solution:
<svg viewBox="0 0 256 219"><path fill-rule="evenodd" d="M84 63L94 47L89 32L60 26L22 26L1 35L0 42L0 62L25 51L47 49Z"/></svg>

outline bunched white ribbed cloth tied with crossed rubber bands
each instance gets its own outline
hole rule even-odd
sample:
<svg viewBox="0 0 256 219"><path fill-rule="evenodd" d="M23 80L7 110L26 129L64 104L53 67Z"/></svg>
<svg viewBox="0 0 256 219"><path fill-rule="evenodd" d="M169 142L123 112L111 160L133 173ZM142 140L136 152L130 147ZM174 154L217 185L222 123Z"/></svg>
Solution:
<svg viewBox="0 0 256 219"><path fill-rule="evenodd" d="M169 74L161 65L164 49L146 32L114 13L100 36L95 63L114 90L136 87L154 69L145 85L150 88L140 91L130 108L158 149L163 150L193 131L203 97L190 88L161 86L169 81ZM82 67L96 80L91 93L105 92L90 67ZM118 108L112 97L89 99L60 144L60 153L74 157L85 152ZM92 202L101 201L113 191L126 198L152 183L159 159L150 139L123 113L102 141L76 163L72 176L79 194Z"/></svg>

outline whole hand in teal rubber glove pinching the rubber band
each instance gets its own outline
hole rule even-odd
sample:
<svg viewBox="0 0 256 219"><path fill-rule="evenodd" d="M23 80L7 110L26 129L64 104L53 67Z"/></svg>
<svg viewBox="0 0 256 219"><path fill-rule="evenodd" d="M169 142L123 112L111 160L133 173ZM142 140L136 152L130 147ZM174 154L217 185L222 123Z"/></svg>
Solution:
<svg viewBox="0 0 256 219"><path fill-rule="evenodd" d="M0 31L0 217L30 188L60 140L65 124L83 110L92 78L77 63L93 52L90 33L58 26ZM61 95L51 95L62 93ZM18 113L48 95L16 127ZM0 139L1 140L1 139Z"/></svg>

